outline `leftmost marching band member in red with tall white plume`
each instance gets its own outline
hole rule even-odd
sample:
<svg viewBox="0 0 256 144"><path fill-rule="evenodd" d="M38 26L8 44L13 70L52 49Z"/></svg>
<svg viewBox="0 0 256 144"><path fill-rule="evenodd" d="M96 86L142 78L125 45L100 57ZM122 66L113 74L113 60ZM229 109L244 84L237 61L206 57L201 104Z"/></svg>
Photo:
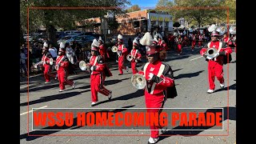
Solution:
<svg viewBox="0 0 256 144"><path fill-rule="evenodd" d="M52 58L52 55L49 52L48 44L44 42L42 47L42 66L44 67L45 83L50 82L50 77L56 78L56 74L51 74L50 58Z"/></svg>

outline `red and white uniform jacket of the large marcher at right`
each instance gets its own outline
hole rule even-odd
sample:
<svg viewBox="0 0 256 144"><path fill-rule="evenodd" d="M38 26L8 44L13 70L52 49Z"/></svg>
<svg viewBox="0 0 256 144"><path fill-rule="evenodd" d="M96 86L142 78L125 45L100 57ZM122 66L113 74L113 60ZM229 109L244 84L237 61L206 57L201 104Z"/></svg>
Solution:
<svg viewBox="0 0 256 144"><path fill-rule="evenodd" d="M200 50L200 54L205 54L207 48L214 47L218 50L218 52L225 51L225 55L231 54L232 50L230 47L226 47L226 42L209 42L207 46L204 46L202 50ZM215 62L222 63L223 62L223 55L218 55L218 57L214 58Z"/></svg>

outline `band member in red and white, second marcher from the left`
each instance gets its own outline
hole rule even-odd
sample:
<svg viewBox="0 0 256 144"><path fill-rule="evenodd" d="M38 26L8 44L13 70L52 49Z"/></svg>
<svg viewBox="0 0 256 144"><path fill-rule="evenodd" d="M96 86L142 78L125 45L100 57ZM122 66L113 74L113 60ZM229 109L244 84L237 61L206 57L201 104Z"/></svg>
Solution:
<svg viewBox="0 0 256 144"><path fill-rule="evenodd" d="M65 45L61 42L59 50L58 50L58 57L56 58L56 65L55 69L58 73L58 82L59 82L59 92L64 91L65 85L72 86L72 89L75 87L75 82L72 80L67 79L68 77L68 66L70 65L69 59L66 56Z"/></svg>

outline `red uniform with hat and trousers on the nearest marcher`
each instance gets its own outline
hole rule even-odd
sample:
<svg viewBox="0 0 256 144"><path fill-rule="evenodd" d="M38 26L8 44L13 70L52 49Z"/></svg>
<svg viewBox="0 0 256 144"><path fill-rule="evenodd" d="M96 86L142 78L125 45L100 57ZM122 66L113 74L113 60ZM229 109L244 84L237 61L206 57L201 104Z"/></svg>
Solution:
<svg viewBox="0 0 256 144"><path fill-rule="evenodd" d="M159 49L156 49L154 46L146 46L146 48L147 54L159 53ZM138 74L142 74L146 78L146 111L160 114L166 98L177 96L173 71L168 64L161 62L160 58L156 58L156 61L153 63L146 62L142 66L142 70L138 71ZM153 77L150 75L153 75ZM158 138L159 129L161 128L162 126L150 126L150 138Z"/></svg>

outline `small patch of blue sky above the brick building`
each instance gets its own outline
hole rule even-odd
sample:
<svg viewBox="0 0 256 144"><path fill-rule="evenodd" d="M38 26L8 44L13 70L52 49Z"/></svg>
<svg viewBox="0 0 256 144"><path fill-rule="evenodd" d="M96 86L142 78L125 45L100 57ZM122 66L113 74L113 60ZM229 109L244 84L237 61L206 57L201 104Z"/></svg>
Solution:
<svg viewBox="0 0 256 144"><path fill-rule="evenodd" d="M142 10L154 8L157 5L158 0L130 0L131 6L138 5Z"/></svg>

